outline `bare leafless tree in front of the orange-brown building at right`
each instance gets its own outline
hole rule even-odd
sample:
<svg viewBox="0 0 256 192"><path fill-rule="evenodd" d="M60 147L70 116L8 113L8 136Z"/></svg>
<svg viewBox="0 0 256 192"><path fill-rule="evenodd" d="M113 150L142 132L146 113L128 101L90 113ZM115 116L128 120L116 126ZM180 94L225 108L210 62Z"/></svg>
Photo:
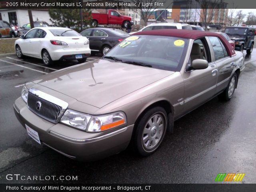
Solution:
<svg viewBox="0 0 256 192"><path fill-rule="evenodd" d="M200 9L200 19L204 23L205 30L215 14L216 8L223 8L222 0L196 0ZM218 10L219 11L219 10Z"/></svg>

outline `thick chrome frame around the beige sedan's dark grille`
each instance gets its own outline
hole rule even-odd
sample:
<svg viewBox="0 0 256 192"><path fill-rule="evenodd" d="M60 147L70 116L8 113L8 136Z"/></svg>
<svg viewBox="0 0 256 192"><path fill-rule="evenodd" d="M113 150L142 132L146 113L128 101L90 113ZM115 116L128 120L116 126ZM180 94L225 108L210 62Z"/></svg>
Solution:
<svg viewBox="0 0 256 192"><path fill-rule="evenodd" d="M53 122L53 123L58 123L59 121L60 121L60 118L62 117L62 115L64 114L64 112L66 111L66 109L68 108L68 103L67 102L65 102L65 101L63 101L63 100L60 100L59 98L56 98L56 97L54 97L54 96L52 96L52 95L49 95L49 94L47 94L47 93L45 93L45 92L42 92L42 91L40 91L40 90L37 90L37 89L35 89L35 88L30 88L30 90L28 91L28 92L30 92L30 93L32 93L32 94L34 94L34 95L36 95L36 96L38 96L38 97L40 97L40 98L42 98L42 99L44 99L44 100L46 100L46 101L48 101L48 102L52 102L53 104L56 104L56 105L58 105L58 106L61 106L62 107L62 110L60 111L60 114L58 115L58 117L56 118L56 122ZM27 103L27 106L28 106L28 103ZM30 109L30 107L28 106L28 108ZM31 109L30 109L31 110ZM36 114L36 113L35 113ZM36 114L36 115L38 115L38 116L40 116L39 114ZM42 117L42 116L40 116L40 117ZM44 118L44 117L42 117L42 118ZM44 118L44 119L46 119L46 118ZM46 119L47 120L47 119Z"/></svg>

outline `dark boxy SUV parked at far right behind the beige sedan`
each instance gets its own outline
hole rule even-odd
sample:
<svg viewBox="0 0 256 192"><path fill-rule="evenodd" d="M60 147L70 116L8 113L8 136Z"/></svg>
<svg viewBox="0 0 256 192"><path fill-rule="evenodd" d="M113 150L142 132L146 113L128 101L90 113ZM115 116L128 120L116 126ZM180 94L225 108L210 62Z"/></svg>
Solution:
<svg viewBox="0 0 256 192"><path fill-rule="evenodd" d="M244 51L247 54L252 53L254 45L255 29L250 27L226 27L226 33L231 40L235 42L235 50Z"/></svg>

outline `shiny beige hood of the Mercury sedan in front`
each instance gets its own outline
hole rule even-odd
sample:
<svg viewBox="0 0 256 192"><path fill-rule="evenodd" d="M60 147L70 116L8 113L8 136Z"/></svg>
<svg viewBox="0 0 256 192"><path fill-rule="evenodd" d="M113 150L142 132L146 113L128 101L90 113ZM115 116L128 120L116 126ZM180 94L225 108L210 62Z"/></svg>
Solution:
<svg viewBox="0 0 256 192"><path fill-rule="evenodd" d="M100 59L52 72L33 82L102 108L173 73Z"/></svg>

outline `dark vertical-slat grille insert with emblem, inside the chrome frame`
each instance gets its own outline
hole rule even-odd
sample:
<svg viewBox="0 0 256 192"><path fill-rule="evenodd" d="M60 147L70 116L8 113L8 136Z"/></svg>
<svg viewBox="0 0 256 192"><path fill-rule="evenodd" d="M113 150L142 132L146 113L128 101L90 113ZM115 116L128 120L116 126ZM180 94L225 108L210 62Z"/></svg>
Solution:
<svg viewBox="0 0 256 192"><path fill-rule="evenodd" d="M38 116L53 123L58 122L58 116L62 110L61 106L42 99L30 92L28 92L28 108Z"/></svg>

